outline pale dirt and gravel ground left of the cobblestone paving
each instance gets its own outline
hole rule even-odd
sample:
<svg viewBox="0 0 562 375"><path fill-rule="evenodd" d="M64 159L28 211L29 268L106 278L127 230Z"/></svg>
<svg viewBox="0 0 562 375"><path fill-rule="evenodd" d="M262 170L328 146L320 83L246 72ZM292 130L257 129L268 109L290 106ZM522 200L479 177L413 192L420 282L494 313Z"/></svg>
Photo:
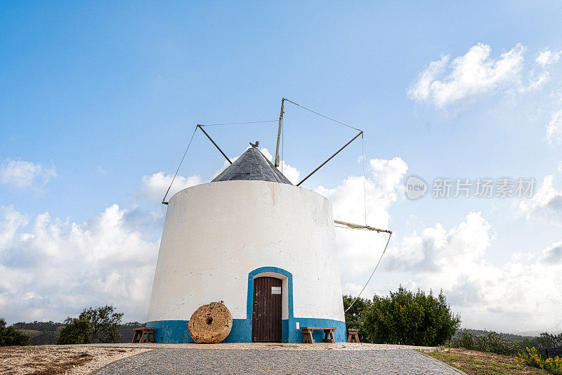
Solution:
<svg viewBox="0 0 562 375"><path fill-rule="evenodd" d="M89 374L91 371L150 348L94 346L0 347L0 374Z"/></svg>

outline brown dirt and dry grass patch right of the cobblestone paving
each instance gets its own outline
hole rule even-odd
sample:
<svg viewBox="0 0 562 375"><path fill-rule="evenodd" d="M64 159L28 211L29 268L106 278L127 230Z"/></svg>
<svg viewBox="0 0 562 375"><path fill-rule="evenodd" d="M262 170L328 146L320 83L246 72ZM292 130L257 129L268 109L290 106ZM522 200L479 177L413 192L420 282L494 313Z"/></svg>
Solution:
<svg viewBox="0 0 562 375"><path fill-rule="evenodd" d="M452 367L466 372L468 375L535 375L548 374L541 369L521 366L517 364L515 357L483 353L476 350L465 350L455 348L436 348L432 350L421 350L421 353L431 355L449 364Z"/></svg>

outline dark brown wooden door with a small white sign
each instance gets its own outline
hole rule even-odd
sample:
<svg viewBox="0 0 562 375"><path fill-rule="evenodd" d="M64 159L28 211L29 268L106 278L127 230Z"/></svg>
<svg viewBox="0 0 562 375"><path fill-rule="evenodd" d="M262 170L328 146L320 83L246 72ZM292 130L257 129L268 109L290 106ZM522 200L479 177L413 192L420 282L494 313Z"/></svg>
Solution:
<svg viewBox="0 0 562 375"><path fill-rule="evenodd" d="M251 341L281 341L281 279L256 277Z"/></svg>

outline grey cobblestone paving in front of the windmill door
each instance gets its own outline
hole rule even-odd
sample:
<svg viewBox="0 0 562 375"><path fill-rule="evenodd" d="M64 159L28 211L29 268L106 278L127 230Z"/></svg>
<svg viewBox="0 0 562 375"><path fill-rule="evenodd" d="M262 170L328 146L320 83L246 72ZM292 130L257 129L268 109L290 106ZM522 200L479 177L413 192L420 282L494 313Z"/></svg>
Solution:
<svg viewBox="0 0 562 375"><path fill-rule="evenodd" d="M95 374L462 374L416 350L159 348Z"/></svg>

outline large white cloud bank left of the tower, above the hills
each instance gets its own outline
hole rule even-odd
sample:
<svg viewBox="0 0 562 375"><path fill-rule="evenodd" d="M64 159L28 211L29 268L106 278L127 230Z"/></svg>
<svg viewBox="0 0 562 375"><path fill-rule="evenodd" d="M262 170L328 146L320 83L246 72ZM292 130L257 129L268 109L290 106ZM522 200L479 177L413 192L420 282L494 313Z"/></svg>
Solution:
<svg viewBox="0 0 562 375"><path fill-rule="evenodd" d="M112 303L125 320L145 321L159 245L131 229L129 213L115 204L81 224L42 213L27 228L24 215L1 208L2 315L63 320Z"/></svg>

